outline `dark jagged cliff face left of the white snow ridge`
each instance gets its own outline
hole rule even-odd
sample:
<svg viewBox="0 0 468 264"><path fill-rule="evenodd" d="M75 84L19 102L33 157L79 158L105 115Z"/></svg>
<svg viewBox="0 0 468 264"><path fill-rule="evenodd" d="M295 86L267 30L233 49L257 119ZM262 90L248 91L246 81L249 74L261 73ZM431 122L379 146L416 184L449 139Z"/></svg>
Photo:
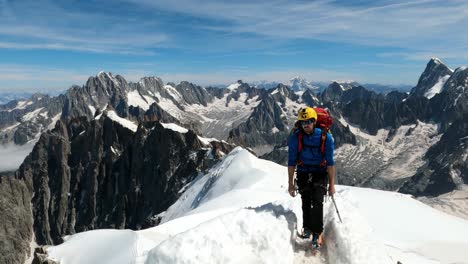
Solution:
<svg viewBox="0 0 468 264"><path fill-rule="evenodd" d="M32 232L50 245L86 230L157 225L183 187L232 148L153 121L134 132L107 112L58 121L16 176L0 177L2 263L25 260Z"/></svg>

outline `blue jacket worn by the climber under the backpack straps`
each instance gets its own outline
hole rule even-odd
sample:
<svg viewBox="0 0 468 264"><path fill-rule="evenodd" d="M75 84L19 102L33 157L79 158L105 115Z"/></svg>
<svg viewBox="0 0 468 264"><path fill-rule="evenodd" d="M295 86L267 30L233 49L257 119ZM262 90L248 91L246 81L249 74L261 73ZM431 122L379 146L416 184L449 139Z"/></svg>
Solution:
<svg viewBox="0 0 468 264"><path fill-rule="evenodd" d="M323 160L323 155L320 152L320 138L322 137L322 130L315 128L314 133L307 135L303 132L302 136L302 151L298 157L298 131L295 131L288 139L288 166L296 166L297 160L301 160L306 166L298 166L298 171L306 171L307 165L320 165ZM335 165L333 154L335 152L335 142L333 136L327 133L325 140L325 160L327 166Z"/></svg>

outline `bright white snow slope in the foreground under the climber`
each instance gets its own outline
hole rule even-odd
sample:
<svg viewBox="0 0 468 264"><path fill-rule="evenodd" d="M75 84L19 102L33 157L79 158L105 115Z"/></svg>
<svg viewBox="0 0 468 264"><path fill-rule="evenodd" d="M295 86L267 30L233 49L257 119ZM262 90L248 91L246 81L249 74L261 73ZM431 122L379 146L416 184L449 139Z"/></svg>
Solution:
<svg viewBox="0 0 468 264"><path fill-rule="evenodd" d="M325 203L325 246L296 237L301 201L286 168L234 149L195 179L159 226L96 230L50 247L70 263L468 263L468 222L409 196L337 186L343 223Z"/></svg>

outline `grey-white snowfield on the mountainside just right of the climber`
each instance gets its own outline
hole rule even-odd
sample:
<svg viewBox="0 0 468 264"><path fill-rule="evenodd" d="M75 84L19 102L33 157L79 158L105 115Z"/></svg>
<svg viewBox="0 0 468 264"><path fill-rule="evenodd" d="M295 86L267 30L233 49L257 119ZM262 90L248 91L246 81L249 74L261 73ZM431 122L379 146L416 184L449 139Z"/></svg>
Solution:
<svg viewBox="0 0 468 264"><path fill-rule="evenodd" d="M413 176L425 163L424 154L442 136L438 135L437 124L421 121L400 126L390 138L390 129L379 129L374 136L343 117L338 121L356 135L357 146L344 144L336 150L335 159L349 175L360 179L394 181Z"/></svg>

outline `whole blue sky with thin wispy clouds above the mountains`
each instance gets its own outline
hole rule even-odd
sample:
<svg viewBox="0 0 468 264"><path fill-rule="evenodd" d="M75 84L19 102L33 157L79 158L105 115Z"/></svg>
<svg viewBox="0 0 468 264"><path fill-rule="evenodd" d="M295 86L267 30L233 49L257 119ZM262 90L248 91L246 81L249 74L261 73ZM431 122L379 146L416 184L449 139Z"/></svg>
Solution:
<svg viewBox="0 0 468 264"><path fill-rule="evenodd" d="M0 0L0 92L65 90L99 71L415 85L467 65L466 1Z"/></svg>

